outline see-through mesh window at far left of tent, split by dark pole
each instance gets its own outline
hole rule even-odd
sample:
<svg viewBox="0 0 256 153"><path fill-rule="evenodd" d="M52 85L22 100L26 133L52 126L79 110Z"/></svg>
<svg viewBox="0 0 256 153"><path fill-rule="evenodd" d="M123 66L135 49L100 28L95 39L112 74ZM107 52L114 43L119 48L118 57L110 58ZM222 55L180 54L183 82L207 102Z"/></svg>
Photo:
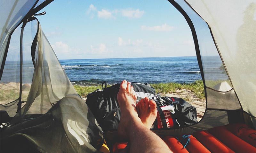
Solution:
<svg viewBox="0 0 256 153"><path fill-rule="evenodd" d="M32 83L34 66L31 61L31 44L33 38L36 35L37 22L31 21L26 24L23 34L23 73L22 73L22 95L21 101L26 101L30 86ZM16 115L17 103L19 102L19 92L20 92L20 53L17 53L20 48L20 28L17 28L13 34L10 41L10 47L5 61L4 71L1 78L0 88L3 90L2 95L7 95L5 99L0 98L0 108L1 110L6 110L8 114L13 117ZM8 94L14 93L12 96ZM3 101L5 100L5 101ZM15 101L14 101L15 100ZM12 103L9 103L13 101ZM9 103L9 104L6 104ZM6 105L3 105L6 104ZM23 103L24 104L24 103Z"/></svg>

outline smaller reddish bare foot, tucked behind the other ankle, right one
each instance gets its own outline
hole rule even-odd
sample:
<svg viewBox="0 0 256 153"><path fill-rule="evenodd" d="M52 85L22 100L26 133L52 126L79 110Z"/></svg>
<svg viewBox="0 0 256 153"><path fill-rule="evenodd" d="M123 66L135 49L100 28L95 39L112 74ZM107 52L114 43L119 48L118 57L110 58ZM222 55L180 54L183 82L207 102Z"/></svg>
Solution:
<svg viewBox="0 0 256 153"><path fill-rule="evenodd" d="M136 109L141 122L150 129L156 120L156 102L146 97L138 102Z"/></svg>

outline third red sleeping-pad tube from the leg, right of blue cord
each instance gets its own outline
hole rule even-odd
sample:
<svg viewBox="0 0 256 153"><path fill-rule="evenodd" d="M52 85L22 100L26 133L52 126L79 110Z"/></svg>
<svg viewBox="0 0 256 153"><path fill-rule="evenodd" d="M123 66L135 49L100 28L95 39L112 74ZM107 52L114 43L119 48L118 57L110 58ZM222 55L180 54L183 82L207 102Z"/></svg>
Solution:
<svg viewBox="0 0 256 153"><path fill-rule="evenodd" d="M233 150L212 136L208 131L197 131L193 133L193 136L211 152L234 153Z"/></svg>

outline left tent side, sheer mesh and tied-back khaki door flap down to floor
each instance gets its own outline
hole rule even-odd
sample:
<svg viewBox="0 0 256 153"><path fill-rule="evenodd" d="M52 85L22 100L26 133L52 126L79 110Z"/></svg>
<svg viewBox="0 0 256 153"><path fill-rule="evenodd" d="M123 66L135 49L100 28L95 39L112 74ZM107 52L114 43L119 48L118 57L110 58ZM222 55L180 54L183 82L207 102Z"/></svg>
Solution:
<svg viewBox="0 0 256 153"><path fill-rule="evenodd" d="M30 5L24 4L25 6ZM26 15L30 9L21 12L24 11ZM2 5L0 10L2 11ZM20 17L20 12L16 13L16 16ZM3 78L0 80L0 87L1 90L2 87L8 87L10 92L3 94L11 98L7 103L0 101L0 109L6 110L13 117L7 126L1 129L1 142L22 136L41 152L96 152L103 143L102 129L84 99L76 93L40 23L36 18L32 18L32 21L26 24L23 34L20 33L20 28L16 30L9 33L13 33L10 44L18 47L10 46L7 56L1 56L6 61L1 63L4 74L1 73ZM20 35L23 38L22 52ZM1 44L1 49L4 45L6 44ZM1 50L1 54L2 52L5 52L5 49ZM12 75L13 77L9 77ZM22 92L18 99L12 96L12 92L15 94L17 91L16 95ZM20 102L21 109L17 111L17 104ZM19 143L15 145L18 146ZM13 144L8 143L4 147L8 146Z"/></svg>

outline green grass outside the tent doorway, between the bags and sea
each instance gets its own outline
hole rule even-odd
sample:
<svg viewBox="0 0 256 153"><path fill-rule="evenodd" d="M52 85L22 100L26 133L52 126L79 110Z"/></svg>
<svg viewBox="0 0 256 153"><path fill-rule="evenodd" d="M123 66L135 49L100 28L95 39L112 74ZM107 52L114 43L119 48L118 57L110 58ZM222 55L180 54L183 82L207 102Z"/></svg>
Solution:
<svg viewBox="0 0 256 153"><path fill-rule="evenodd" d="M192 93L194 93L198 98L204 99L204 84L202 80L195 81L193 83L157 83L157 84L150 84L152 87L156 89L156 93L167 94L173 93L176 90L181 89L190 89ZM82 97L86 97L87 94L101 89L101 86L74 86L76 92L81 95ZM109 86L108 86L109 87Z"/></svg>

